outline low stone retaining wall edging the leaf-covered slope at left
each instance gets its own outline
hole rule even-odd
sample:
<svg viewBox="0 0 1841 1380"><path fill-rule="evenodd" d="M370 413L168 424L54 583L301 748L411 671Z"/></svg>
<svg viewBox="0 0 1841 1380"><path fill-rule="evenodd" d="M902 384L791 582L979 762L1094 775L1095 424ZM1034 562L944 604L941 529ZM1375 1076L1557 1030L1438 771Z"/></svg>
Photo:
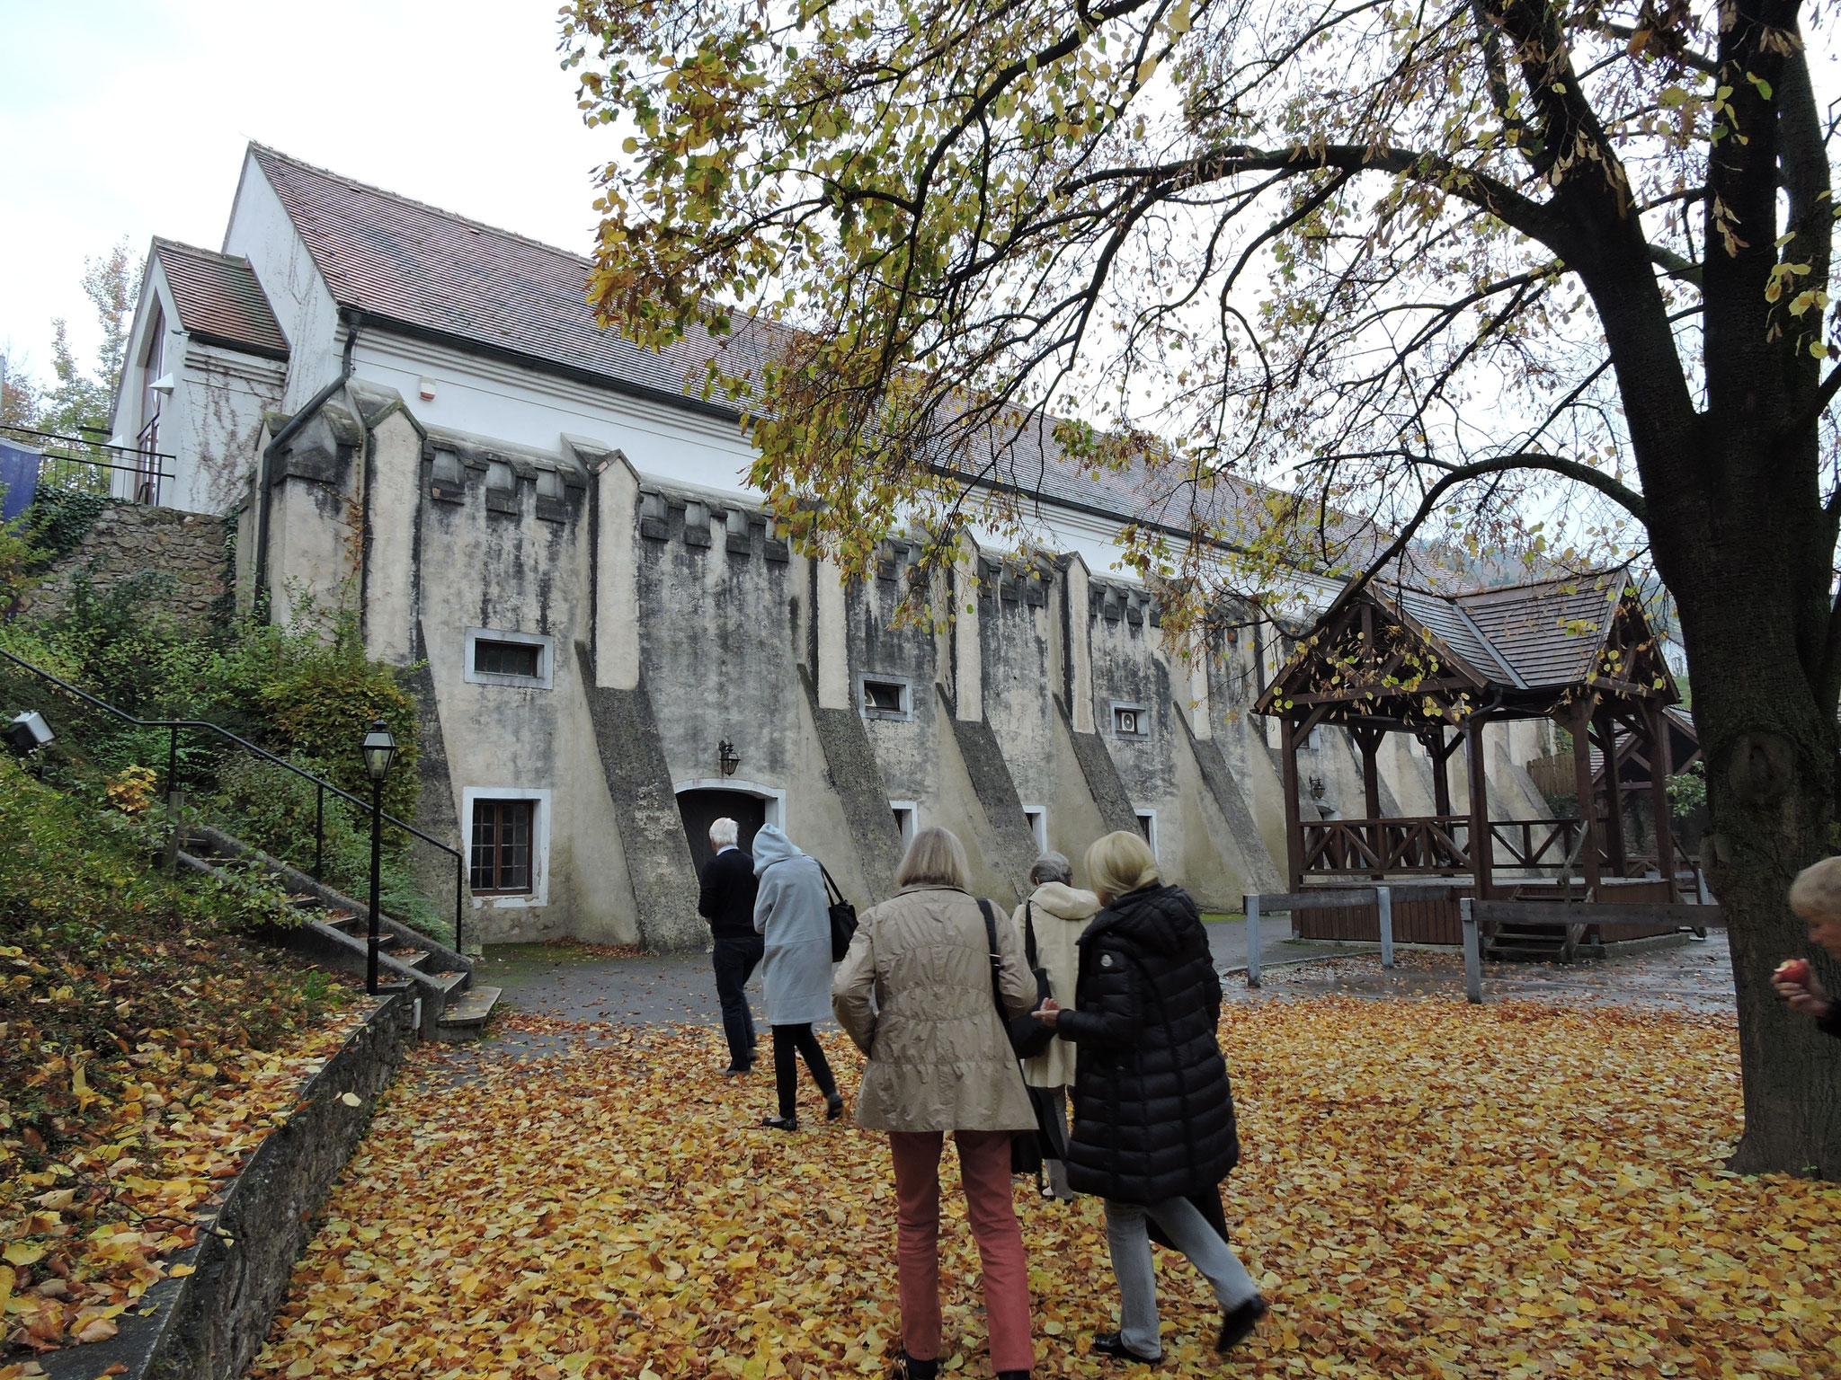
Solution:
<svg viewBox="0 0 1841 1380"><path fill-rule="evenodd" d="M127 1380L236 1380L249 1369L320 1203L414 1040L407 1001L383 997L302 1086L295 1115L256 1146L215 1220L201 1218L215 1229L201 1225L199 1244L168 1259L193 1273L147 1290L138 1312L116 1319L114 1338L44 1354L48 1380L94 1380L112 1365Z"/></svg>

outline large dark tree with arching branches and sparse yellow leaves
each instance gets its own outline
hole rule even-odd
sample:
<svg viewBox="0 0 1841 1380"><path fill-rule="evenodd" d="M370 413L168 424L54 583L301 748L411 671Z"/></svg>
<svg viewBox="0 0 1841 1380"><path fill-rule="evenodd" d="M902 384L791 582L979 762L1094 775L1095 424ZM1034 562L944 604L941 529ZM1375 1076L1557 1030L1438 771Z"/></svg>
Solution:
<svg viewBox="0 0 1841 1380"><path fill-rule="evenodd" d="M1646 545L1732 927L1734 1165L1841 1178L1841 1060L1769 988L1784 889L1835 845L1841 696L1804 28L1782 0L576 0L563 52L626 140L595 302L652 344L733 333L707 386L753 392L758 482L817 499L799 535L847 565L1049 451L1130 466L1193 534L1127 534L1189 616L1360 572L1375 532L1537 543L1559 512ZM981 502L1020 524L1018 488Z"/></svg>

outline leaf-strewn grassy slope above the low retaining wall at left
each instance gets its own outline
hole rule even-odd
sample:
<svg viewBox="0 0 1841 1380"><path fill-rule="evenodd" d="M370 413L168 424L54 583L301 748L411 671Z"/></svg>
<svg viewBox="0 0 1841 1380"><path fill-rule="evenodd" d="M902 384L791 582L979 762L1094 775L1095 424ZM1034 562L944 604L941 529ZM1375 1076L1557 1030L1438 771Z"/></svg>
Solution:
<svg viewBox="0 0 1841 1380"><path fill-rule="evenodd" d="M361 1016L0 760L0 1356L99 1341ZM9 1369L0 1360L0 1380Z"/></svg>

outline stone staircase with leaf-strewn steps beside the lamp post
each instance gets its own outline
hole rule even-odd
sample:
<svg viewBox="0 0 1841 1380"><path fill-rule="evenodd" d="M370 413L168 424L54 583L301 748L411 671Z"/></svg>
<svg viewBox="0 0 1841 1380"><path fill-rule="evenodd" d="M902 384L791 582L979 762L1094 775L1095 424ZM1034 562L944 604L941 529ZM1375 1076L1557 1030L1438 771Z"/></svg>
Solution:
<svg viewBox="0 0 1841 1380"><path fill-rule="evenodd" d="M232 885L250 868L265 872L300 914L298 929L287 933L291 948L346 972L366 972L370 924L363 902L208 824L186 828L179 865ZM388 914L377 916L377 981L411 990L423 1040L479 1040L501 995L495 986L473 984L471 959Z"/></svg>

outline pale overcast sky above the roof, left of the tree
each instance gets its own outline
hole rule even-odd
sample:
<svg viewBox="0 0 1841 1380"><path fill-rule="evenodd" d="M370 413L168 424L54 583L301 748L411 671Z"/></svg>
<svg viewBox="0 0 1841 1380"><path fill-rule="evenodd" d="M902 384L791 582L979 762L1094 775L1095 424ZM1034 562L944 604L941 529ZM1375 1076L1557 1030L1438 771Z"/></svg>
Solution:
<svg viewBox="0 0 1841 1380"><path fill-rule="evenodd" d="M0 0L0 346L50 375L52 318L98 340L83 258L123 236L223 245L269 144L585 252L589 171L558 0Z"/></svg>

